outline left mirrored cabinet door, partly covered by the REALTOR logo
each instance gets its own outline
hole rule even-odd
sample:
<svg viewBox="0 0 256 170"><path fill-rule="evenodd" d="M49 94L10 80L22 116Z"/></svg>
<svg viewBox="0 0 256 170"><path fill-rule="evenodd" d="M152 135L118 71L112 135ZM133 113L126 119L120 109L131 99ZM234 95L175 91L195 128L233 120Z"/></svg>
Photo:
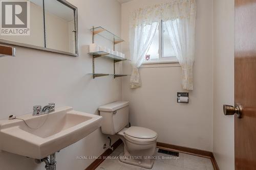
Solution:
<svg viewBox="0 0 256 170"><path fill-rule="evenodd" d="M10 41L10 44L22 43L26 46L45 46L44 8L43 0L30 0L30 35L0 35L0 39Z"/></svg>

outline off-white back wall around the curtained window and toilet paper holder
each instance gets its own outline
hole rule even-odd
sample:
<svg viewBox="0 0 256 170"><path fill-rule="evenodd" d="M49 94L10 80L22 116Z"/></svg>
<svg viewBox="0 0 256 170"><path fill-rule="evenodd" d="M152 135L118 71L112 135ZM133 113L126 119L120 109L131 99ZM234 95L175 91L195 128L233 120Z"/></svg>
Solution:
<svg viewBox="0 0 256 170"><path fill-rule="evenodd" d="M167 0L134 0L122 4L122 49L129 54L129 13L145 5ZM181 68L177 64L140 68L142 87L130 89L130 78L123 78L123 100L130 101L132 125L155 130L159 142L212 151L212 0L197 0L194 90L189 104L176 102L181 87ZM158 67L164 66L164 67ZM130 64L123 64L130 73Z"/></svg>

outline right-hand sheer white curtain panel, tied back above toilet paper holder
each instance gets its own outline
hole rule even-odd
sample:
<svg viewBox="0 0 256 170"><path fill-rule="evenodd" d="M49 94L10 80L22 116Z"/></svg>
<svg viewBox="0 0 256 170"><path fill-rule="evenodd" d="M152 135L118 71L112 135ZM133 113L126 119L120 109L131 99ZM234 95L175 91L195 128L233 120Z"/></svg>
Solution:
<svg viewBox="0 0 256 170"><path fill-rule="evenodd" d="M176 4L174 8L177 13L181 13L182 10L186 11L186 17L165 20L164 23L182 68L182 87L193 90L196 4L191 3L182 7L181 4Z"/></svg>

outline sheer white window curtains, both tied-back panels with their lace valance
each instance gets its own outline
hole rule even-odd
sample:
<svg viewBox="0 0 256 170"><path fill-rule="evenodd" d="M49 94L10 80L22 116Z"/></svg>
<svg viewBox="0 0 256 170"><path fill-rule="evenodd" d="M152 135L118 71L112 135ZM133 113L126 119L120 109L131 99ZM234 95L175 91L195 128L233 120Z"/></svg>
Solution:
<svg viewBox="0 0 256 170"><path fill-rule="evenodd" d="M133 72L131 87L140 87L138 68L152 43L158 22L163 20L182 67L182 87L193 89L195 44L195 0L172 0L166 4L140 8L130 15L130 51Z"/></svg>

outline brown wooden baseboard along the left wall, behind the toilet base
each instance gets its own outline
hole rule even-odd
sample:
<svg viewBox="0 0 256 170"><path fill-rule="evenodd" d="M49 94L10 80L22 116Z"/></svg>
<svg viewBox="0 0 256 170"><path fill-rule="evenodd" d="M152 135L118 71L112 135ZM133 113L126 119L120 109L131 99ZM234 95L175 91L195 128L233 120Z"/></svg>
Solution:
<svg viewBox="0 0 256 170"><path fill-rule="evenodd" d="M115 150L115 149L117 149L117 147L119 147L120 144L122 144L122 140L118 139L114 144L112 144L112 147ZM105 150L105 152L100 155L100 158L93 161L85 170L94 170L94 169L96 169L105 160L104 157L109 156L112 152L113 151L111 149Z"/></svg>

